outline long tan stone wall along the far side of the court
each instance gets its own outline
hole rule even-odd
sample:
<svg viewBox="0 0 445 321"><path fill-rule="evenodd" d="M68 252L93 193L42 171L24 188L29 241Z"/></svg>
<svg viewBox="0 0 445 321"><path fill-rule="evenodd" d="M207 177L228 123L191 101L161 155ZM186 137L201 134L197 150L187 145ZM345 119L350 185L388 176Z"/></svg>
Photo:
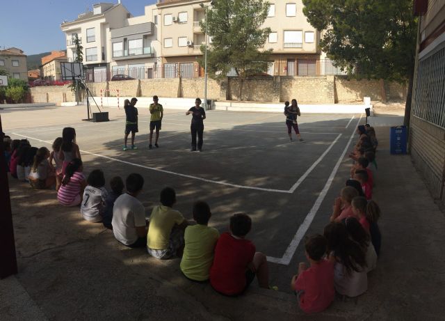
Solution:
<svg viewBox="0 0 445 321"><path fill-rule="evenodd" d="M93 96L99 97L101 89L111 90L115 97L204 97L204 78L193 79L135 79L88 83ZM105 93L103 93L104 96ZM222 81L208 79L207 97L213 100L238 100L239 79L228 77ZM406 88L401 84L378 80L348 80L346 77L252 77L243 85L243 100L254 102L284 102L296 98L302 104L334 104L371 100L403 100ZM74 95L67 86L40 86L31 88L33 102L72 102Z"/></svg>

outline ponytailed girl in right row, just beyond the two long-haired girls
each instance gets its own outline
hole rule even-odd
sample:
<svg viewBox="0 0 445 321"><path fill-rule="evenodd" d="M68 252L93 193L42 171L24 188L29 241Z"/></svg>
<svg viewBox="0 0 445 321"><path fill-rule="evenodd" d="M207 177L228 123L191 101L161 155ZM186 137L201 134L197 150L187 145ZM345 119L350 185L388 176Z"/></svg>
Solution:
<svg viewBox="0 0 445 321"><path fill-rule="evenodd" d="M371 235L375 253L379 256L382 235L380 234L377 221L380 218L380 208L374 201L366 201L364 198L357 197L353 199L353 210L357 213L360 224Z"/></svg>

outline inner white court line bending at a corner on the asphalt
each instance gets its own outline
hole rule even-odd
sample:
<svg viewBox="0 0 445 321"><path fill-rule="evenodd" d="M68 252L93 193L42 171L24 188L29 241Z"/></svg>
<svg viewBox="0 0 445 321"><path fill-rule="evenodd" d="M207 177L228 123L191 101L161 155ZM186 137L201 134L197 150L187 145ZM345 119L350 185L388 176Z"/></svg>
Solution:
<svg viewBox="0 0 445 321"><path fill-rule="evenodd" d="M51 141L44 141L42 139L36 139L34 137L30 137L30 136L25 136L22 134L18 134L17 132L13 132L12 134L15 134L17 136L22 136L26 139L33 139L35 141L41 141L42 143L48 143L48 144L52 144ZM332 146L334 146L334 143L337 143L338 139L340 138L341 134L339 134L339 136L337 136L337 139L335 139L334 141L332 141L332 143L330 144L330 146L327 148L327 150L325 152L323 152L323 154L321 155L321 157L318 157L318 159L316 160L316 162L314 164L318 164L319 162L321 162L321 160L323 159L323 157L325 157L325 155L327 154L327 152L332 148ZM124 161L122 159L117 159L117 158L113 158L113 157L108 157L105 155L100 155L100 154L95 154L94 152L88 152L87 150L80 150L81 152L88 154L88 155L94 155L96 157L102 157L105 159L110 159L113 160L115 162L120 162L122 164L128 164L128 165L132 165L132 166L136 166L136 167L141 167L143 169L150 169L152 171L159 171L161 173L168 173L168 174L172 174L172 175L177 175L177 176L181 176L184 178L192 178L194 180L201 180L203 182L211 182L213 184L218 184L218 185L225 185L225 186L230 186L230 187L237 187L237 188L241 188L241 189L255 189L257 191L273 191L273 192L277 192L277 193L285 193L285 194L292 194L293 191L295 191L296 187L295 185L293 185L293 187L291 187L291 189L288 190L284 190L284 189L267 189L267 188L263 188L263 187L251 187L251 186L245 186L245 185L237 185L237 184L232 184L229 182L221 182L218 180L207 180L206 178L200 178L197 176L193 176L193 175L186 175L186 174L182 174L182 173L176 173L174 171L166 171L165 169L156 169L155 167L149 167L149 166L145 166L145 165L141 165L141 164L135 164L135 163L131 163L131 162L127 162ZM300 178L297 183L298 185L301 184L302 180L304 180L307 175L309 175L309 173L312 172L312 170L314 170L315 166L314 164L312 166L309 167L309 169L307 169L307 171L302 175L302 177L304 177L303 179ZM296 183L296 184L297 184ZM298 186L297 185L297 186Z"/></svg>

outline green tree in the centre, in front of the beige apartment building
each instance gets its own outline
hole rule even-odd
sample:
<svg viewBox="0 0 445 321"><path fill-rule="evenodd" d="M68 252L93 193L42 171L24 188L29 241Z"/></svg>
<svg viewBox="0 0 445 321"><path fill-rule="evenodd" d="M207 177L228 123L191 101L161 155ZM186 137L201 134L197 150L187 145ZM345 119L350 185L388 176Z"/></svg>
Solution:
<svg viewBox="0 0 445 321"><path fill-rule="evenodd" d="M247 77L267 70L271 50L260 50L270 28L261 28L268 14L269 3L263 0L216 0L207 16L207 70L215 79L224 78L234 68L240 81L241 100ZM205 32L205 22L201 24ZM205 46L201 46L204 52ZM200 65L204 65L200 59Z"/></svg>

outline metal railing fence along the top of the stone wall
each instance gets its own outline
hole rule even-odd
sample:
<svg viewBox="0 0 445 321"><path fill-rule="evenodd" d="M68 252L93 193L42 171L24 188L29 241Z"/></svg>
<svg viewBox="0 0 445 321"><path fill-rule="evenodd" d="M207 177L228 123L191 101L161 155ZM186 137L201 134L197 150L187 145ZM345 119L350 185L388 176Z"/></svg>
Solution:
<svg viewBox="0 0 445 321"><path fill-rule="evenodd" d="M264 72L259 76L323 76L347 75L346 71L334 67L329 59L298 59L280 62L269 62ZM124 68L113 66L111 70L86 70L86 81L102 82L131 79L156 78L199 78L204 77L204 68L197 62L164 63L153 67ZM227 73L227 77L236 77L234 68Z"/></svg>

